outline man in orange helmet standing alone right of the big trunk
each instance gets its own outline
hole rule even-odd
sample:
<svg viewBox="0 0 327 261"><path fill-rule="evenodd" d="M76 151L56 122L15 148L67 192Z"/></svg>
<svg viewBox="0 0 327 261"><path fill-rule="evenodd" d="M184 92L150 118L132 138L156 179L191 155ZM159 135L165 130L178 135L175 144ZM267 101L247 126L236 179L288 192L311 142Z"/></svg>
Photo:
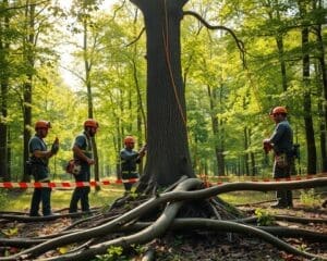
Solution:
<svg viewBox="0 0 327 261"><path fill-rule="evenodd" d="M294 164L293 130L287 120L287 114L284 107L272 109L270 116L276 123L276 127L270 138L264 139L265 152L268 153L270 150L274 150L274 178L290 177L292 165ZM292 190L278 190L276 198L277 203L271 206L272 208L293 207Z"/></svg>

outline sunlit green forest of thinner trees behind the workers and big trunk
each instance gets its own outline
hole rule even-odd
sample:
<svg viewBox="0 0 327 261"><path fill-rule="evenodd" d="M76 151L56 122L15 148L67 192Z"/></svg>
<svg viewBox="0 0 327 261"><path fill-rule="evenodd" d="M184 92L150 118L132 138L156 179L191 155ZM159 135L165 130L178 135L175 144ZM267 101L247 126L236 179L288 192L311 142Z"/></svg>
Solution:
<svg viewBox="0 0 327 261"><path fill-rule="evenodd" d="M50 161L53 178L69 178L63 166L87 117L100 124L96 178L116 177L125 135L136 136L138 147L146 142L141 12L129 1L62 3L0 0L3 181L29 179L24 162L39 119L52 124L47 141L60 139L60 151ZM300 144L296 173L327 172L326 3L190 0L184 10L232 29L244 46L242 53L226 30L183 17L185 124L195 173L270 175L272 159L262 141L274 129L269 111L276 105L288 108ZM71 73L73 85L63 72Z"/></svg>

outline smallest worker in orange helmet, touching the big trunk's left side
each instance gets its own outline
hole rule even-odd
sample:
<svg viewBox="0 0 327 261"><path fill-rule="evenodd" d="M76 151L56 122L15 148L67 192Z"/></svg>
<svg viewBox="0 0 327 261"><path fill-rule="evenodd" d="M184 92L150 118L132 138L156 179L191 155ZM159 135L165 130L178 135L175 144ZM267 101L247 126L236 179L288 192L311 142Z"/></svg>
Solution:
<svg viewBox="0 0 327 261"><path fill-rule="evenodd" d="M141 163L142 158L146 152L146 145L140 151L134 150L135 139L133 136L124 138L124 148L120 151L120 171L122 179L138 178L136 164ZM124 183L125 195L131 192L132 183Z"/></svg>

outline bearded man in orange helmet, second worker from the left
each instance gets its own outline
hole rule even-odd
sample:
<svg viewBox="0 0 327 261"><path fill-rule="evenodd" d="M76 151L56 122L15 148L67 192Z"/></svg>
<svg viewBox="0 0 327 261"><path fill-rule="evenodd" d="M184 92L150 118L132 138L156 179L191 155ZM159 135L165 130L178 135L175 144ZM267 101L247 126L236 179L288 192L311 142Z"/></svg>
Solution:
<svg viewBox="0 0 327 261"><path fill-rule="evenodd" d="M75 172L75 182L89 182L90 181L90 165L95 163L93 159L93 146L92 137L97 133L99 124L93 119L88 119L84 122L84 132L76 136L73 145L74 161L78 164L78 172ZM90 191L89 186L75 187L71 202L70 213L77 212L77 203L81 200L82 211L89 211L88 194Z"/></svg>

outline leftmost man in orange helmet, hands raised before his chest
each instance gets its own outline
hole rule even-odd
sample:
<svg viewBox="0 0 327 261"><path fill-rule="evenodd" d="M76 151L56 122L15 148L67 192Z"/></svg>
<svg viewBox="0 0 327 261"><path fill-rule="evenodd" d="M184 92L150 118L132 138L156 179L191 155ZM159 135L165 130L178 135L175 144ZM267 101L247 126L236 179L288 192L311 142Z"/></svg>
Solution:
<svg viewBox="0 0 327 261"><path fill-rule="evenodd" d="M35 135L28 141L29 160L27 161L27 171L33 175L37 183L49 183L49 159L57 154L59 150L59 139L56 138L51 149L48 150L44 138L48 136L50 122L37 121L35 123ZM39 204L43 206L43 214L45 216L53 215L51 211L51 188L50 187L35 187L31 201L31 216L40 216Z"/></svg>

